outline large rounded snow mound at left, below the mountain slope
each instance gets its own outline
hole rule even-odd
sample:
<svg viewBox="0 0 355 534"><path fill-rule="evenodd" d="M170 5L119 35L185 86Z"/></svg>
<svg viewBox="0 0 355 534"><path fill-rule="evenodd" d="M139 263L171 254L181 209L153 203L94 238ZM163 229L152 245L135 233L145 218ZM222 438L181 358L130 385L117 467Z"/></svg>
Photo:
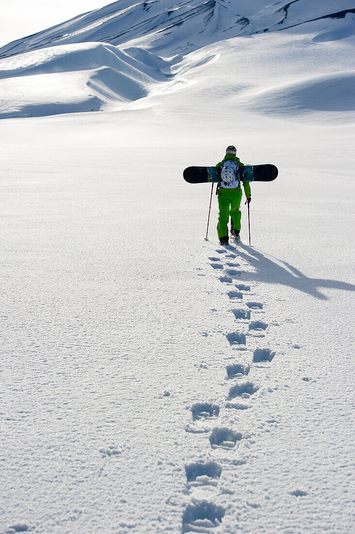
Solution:
<svg viewBox="0 0 355 534"><path fill-rule="evenodd" d="M146 52L142 64L134 55L135 49L125 53L105 43L82 43L3 60L0 88L5 95L22 96L9 101L1 116L99 111L103 105L114 103L117 108L143 98L149 84L169 75L160 70L160 58Z"/></svg>

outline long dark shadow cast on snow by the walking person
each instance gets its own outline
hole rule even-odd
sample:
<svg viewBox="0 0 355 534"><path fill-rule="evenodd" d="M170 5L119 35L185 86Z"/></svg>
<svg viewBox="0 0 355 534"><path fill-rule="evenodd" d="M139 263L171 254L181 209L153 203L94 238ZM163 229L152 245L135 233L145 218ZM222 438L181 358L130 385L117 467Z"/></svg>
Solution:
<svg viewBox="0 0 355 534"><path fill-rule="evenodd" d="M285 266L273 262L259 250L239 244L238 254L255 268L254 272L245 271L250 281L257 280L269 284L283 284L308 293L317 299L328 300L328 297L319 291L319 288L346 289L354 291L355 286L338 280L323 278L307 278L305 274L287 262L278 260ZM278 258L275 258L277 260Z"/></svg>

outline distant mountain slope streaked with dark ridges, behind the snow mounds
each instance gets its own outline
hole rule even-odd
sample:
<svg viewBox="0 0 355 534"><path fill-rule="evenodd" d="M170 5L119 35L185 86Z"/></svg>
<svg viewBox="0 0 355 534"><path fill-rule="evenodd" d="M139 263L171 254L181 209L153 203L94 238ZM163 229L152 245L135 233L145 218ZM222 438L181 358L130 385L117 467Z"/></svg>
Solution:
<svg viewBox="0 0 355 534"><path fill-rule="evenodd" d="M57 26L14 41L0 58L48 46L82 42L134 42L162 56L240 35L275 31L321 18L354 13L350 0L119 0Z"/></svg>

